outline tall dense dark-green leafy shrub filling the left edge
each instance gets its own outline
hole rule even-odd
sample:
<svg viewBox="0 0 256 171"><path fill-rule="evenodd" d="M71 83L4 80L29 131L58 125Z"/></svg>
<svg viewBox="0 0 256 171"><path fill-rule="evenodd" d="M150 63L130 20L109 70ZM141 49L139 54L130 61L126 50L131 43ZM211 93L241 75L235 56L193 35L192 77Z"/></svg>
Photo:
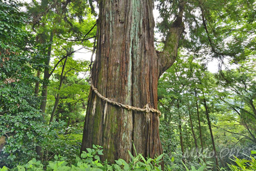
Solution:
<svg viewBox="0 0 256 171"><path fill-rule="evenodd" d="M17 1L0 1L0 167L27 163L48 134L38 110L34 76L42 57L28 19Z"/></svg>

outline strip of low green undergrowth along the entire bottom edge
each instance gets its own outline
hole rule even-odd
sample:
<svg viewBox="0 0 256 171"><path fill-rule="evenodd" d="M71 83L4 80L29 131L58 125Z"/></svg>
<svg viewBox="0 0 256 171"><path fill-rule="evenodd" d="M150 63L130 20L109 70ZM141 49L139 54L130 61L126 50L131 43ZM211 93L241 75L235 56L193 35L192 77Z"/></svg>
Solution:
<svg viewBox="0 0 256 171"><path fill-rule="evenodd" d="M66 157L60 157L55 155L54 161L49 161L49 163L44 166L40 161L36 159L30 160L27 164L24 165L17 165L16 167L9 169L8 167L4 166L0 168L0 171L80 171L80 170L93 170L93 171L105 171L105 170L135 170L135 171L142 171L142 170L174 170L176 168L174 158L170 159L172 162L172 166L165 166L164 168L161 167L162 157L164 154L158 156L155 159L152 158L144 158L141 154L133 156L130 152L129 155L131 160L129 163L125 162L123 159L115 160L115 164L109 164L107 161L102 162L100 160L100 156L103 155L101 146L93 145L93 148L87 148L87 152L82 152L81 157L76 157L74 163L69 164L67 162ZM252 151L251 154L256 154L256 151ZM250 160L246 159L239 159L234 157L234 161L237 165L228 164L231 171L251 171L256 170L256 157L250 156ZM208 170L206 163L199 166L196 169L195 166L191 166L189 169L185 164L184 168L180 168L182 170L187 171L203 171ZM225 168L220 168L220 170L226 170Z"/></svg>

